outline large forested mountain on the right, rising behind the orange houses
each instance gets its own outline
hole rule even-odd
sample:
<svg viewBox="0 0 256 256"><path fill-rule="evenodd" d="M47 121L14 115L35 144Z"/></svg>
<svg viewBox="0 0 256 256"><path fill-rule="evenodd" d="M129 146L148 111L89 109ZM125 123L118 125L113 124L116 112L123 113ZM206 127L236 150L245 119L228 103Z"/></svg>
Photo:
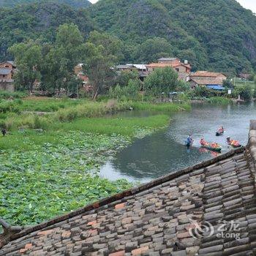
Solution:
<svg viewBox="0 0 256 256"><path fill-rule="evenodd" d="M101 29L127 42L132 59L148 61L140 58L146 40L161 37L173 56L200 69L241 72L256 66L256 16L235 0L99 0L91 15ZM152 52L146 53L150 58Z"/></svg>

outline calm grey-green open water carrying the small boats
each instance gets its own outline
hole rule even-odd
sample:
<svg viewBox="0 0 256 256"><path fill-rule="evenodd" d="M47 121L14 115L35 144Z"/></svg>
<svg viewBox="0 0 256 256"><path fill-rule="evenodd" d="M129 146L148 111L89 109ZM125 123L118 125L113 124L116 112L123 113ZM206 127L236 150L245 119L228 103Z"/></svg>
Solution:
<svg viewBox="0 0 256 256"><path fill-rule="evenodd" d="M171 115L172 121L167 129L154 133L143 139L135 140L131 146L124 148L116 157L108 161L100 170L100 175L110 180L127 178L140 183L167 173L195 165L217 153L202 150L200 138L208 142L220 143L222 153L230 148L225 138L239 140L246 145L249 120L256 118L256 104L215 106L206 104L192 105L190 112ZM130 113L138 116L145 113ZM225 135L216 137L219 126L225 127ZM195 144L191 150L184 146L184 140L192 134Z"/></svg>

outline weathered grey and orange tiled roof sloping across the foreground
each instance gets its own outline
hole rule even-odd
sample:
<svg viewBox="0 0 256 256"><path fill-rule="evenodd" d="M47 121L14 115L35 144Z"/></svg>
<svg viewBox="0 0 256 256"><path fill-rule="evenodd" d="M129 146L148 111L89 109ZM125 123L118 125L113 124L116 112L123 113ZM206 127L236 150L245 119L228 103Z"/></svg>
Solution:
<svg viewBox="0 0 256 256"><path fill-rule="evenodd" d="M240 238L217 237L219 221ZM0 255L254 255L255 230L255 167L239 148L14 234Z"/></svg>

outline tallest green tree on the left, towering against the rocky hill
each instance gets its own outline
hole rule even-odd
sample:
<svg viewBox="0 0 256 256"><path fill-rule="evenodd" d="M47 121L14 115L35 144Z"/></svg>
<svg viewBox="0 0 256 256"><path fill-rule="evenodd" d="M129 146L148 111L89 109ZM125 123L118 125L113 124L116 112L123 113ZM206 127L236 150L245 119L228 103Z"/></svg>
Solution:
<svg viewBox="0 0 256 256"><path fill-rule="evenodd" d="M46 50L42 69L42 86L48 91L65 89L67 94L77 90L81 84L74 74L75 66L83 59L83 36L78 26L59 26L56 42Z"/></svg>

